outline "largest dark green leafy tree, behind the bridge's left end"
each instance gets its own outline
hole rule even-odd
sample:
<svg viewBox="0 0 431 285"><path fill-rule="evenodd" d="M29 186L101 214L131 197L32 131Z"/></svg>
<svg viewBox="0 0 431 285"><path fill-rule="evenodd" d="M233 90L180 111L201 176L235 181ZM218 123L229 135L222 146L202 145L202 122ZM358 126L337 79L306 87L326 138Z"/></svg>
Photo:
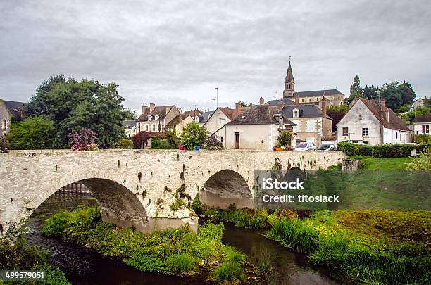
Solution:
<svg viewBox="0 0 431 285"><path fill-rule="evenodd" d="M54 147L68 147L68 134L91 129L99 134L97 143L110 148L123 137L125 110L114 82L95 80L77 82L56 75L37 87L27 105L27 116L42 115L54 122Z"/></svg>

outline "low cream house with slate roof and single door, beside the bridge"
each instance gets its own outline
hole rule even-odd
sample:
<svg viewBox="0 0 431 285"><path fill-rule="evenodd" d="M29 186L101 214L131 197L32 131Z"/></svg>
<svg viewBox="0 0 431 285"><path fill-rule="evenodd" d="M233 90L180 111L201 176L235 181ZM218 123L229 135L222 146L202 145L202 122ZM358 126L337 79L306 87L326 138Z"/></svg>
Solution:
<svg viewBox="0 0 431 285"><path fill-rule="evenodd" d="M279 132L292 130L293 125L268 104L251 106L223 127L224 146L227 149L272 150Z"/></svg>

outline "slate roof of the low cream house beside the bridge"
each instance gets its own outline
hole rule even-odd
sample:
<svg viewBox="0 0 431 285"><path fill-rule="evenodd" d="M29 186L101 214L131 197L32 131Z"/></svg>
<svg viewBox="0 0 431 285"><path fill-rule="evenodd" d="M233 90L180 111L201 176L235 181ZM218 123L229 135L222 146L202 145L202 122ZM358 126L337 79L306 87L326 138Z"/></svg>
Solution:
<svg viewBox="0 0 431 285"><path fill-rule="evenodd" d="M278 125L278 120L274 118L277 115L276 110L267 105L252 106L246 113L239 115L235 120L228 122L226 125ZM289 120L284 120L285 124L292 124Z"/></svg>

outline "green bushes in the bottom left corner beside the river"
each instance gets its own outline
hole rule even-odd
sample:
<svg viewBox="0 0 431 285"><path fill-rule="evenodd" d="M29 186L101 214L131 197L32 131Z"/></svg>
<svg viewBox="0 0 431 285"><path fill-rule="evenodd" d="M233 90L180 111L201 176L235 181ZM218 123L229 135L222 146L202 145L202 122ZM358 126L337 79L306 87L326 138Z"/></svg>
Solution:
<svg viewBox="0 0 431 285"><path fill-rule="evenodd" d="M53 269L46 261L47 251L29 246L23 236L23 226L20 225L15 230L8 232L11 236L16 236L14 242L6 236L0 239L0 270L46 270L46 280L42 284L70 284L61 270ZM15 284L13 282L1 281L0 284ZM22 284L34 284L32 282L22 282Z"/></svg>

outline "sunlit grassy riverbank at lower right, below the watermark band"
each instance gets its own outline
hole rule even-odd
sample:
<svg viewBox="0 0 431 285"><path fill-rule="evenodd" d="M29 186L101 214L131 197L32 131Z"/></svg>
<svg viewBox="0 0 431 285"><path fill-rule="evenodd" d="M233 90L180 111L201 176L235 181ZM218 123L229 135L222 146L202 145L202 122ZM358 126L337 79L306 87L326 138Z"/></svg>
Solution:
<svg viewBox="0 0 431 285"><path fill-rule="evenodd" d="M431 278L430 212L206 210L213 221L269 229L265 236L308 253L338 279L371 284L427 284ZM299 218L302 215L304 219Z"/></svg>

